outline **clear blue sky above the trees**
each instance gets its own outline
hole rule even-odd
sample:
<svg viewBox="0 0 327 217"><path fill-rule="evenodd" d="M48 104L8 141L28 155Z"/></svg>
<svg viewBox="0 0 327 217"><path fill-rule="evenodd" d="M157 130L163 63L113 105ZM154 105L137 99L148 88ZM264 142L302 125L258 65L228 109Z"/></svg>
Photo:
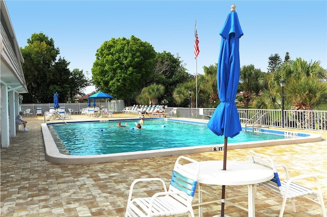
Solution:
<svg viewBox="0 0 327 217"><path fill-rule="evenodd" d="M241 66L267 71L271 54L284 60L289 52L292 60L319 60L327 68L327 1L6 1L19 46L42 32L54 39L71 70L89 74L104 41L131 35L149 42L156 52L179 54L189 73L195 75L197 68L203 74L203 66L218 61L219 32L232 4L244 33Z"/></svg>

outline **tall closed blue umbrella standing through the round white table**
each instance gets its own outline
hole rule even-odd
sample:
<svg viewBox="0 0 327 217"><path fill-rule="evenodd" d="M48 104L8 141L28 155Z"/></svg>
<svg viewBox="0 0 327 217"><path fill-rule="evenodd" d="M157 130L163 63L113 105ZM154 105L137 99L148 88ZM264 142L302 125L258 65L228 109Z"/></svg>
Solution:
<svg viewBox="0 0 327 217"><path fill-rule="evenodd" d="M217 84L221 103L210 118L207 126L216 135L225 136L223 170L226 170L227 138L234 137L242 130L235 104L240 79L239 39L243 36L235 5L227 16L220 31L221 44L218 58ZM222 188L221 216L224 216L225 186Z"/></svg>

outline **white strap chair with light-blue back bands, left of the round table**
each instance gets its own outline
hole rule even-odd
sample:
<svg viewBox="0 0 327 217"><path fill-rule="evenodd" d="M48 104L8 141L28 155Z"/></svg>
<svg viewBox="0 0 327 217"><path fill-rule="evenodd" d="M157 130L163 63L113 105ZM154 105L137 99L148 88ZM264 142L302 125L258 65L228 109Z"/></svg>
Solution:
<svg viewBox="0 0 327 217"><path fill-rule="evenodd" d="M196 169L193 170L180 164L179 162L181 159L183 159L183 162L196 163ZM198 174L199 163L191 158L180 156L175 162L168 191L164 180L160 178L136 179L131 184L125 217L170 216L183 213L189 213L189 215L194 217L192 200L196 189ZM134 185L138 182L149 182L149 184L161 182L164 191L157 192L152 197L132 199ZM153 187L151 187L151 189L153 189ZM139 189L135 191L139 192Z"/></svg>

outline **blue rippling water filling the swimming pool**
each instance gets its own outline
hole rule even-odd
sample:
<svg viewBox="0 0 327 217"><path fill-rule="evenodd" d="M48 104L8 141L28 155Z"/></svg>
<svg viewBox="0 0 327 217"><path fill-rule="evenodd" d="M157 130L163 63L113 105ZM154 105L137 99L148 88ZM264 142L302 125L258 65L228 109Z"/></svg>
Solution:
<svg viewBox="0 0 327 217"><path fill-rule="evenodd" d="M84 122L50 125L71 155L101 155L156 149L223 144L224 137L215 135L206 124L189 124L166 120L146 120L135 129L135 120L116 122ZM110 125L113 125L110 127ZM241 131L228 143L283 139L284 135Z"/></svg>

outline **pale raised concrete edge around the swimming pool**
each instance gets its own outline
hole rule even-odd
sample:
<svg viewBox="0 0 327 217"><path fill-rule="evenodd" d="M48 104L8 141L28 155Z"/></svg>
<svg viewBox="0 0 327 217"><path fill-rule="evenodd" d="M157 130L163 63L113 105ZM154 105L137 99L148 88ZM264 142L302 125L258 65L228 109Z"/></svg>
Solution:
<svg viewBox="0 0 327 217"><path fill-rule="evenodd" d="M178 119L176 119L176 121L178 121ZM43 141L44 141L45 159L48 160L49 162L58 163L58 164L90 164L90 163L103 163L103 162L111 162L111 161L119 161L119 160L195 154L201 152L213 152L214 148L223 147L223 144L214 144L208 146L126 152L126 153L104 154L104 155L84 155L84 156L64 155L59 152L56 143L52 138L52 135L48 128L48 124L41 124L41 130L42 130ZM228 150L267 147L267 146L276 146L282 144L316 142L322 140L321 134L315 134L315 133L314 134L306 133L306 134L309 134L310 136L255 141L255 142L229 143Z"/></svg>

